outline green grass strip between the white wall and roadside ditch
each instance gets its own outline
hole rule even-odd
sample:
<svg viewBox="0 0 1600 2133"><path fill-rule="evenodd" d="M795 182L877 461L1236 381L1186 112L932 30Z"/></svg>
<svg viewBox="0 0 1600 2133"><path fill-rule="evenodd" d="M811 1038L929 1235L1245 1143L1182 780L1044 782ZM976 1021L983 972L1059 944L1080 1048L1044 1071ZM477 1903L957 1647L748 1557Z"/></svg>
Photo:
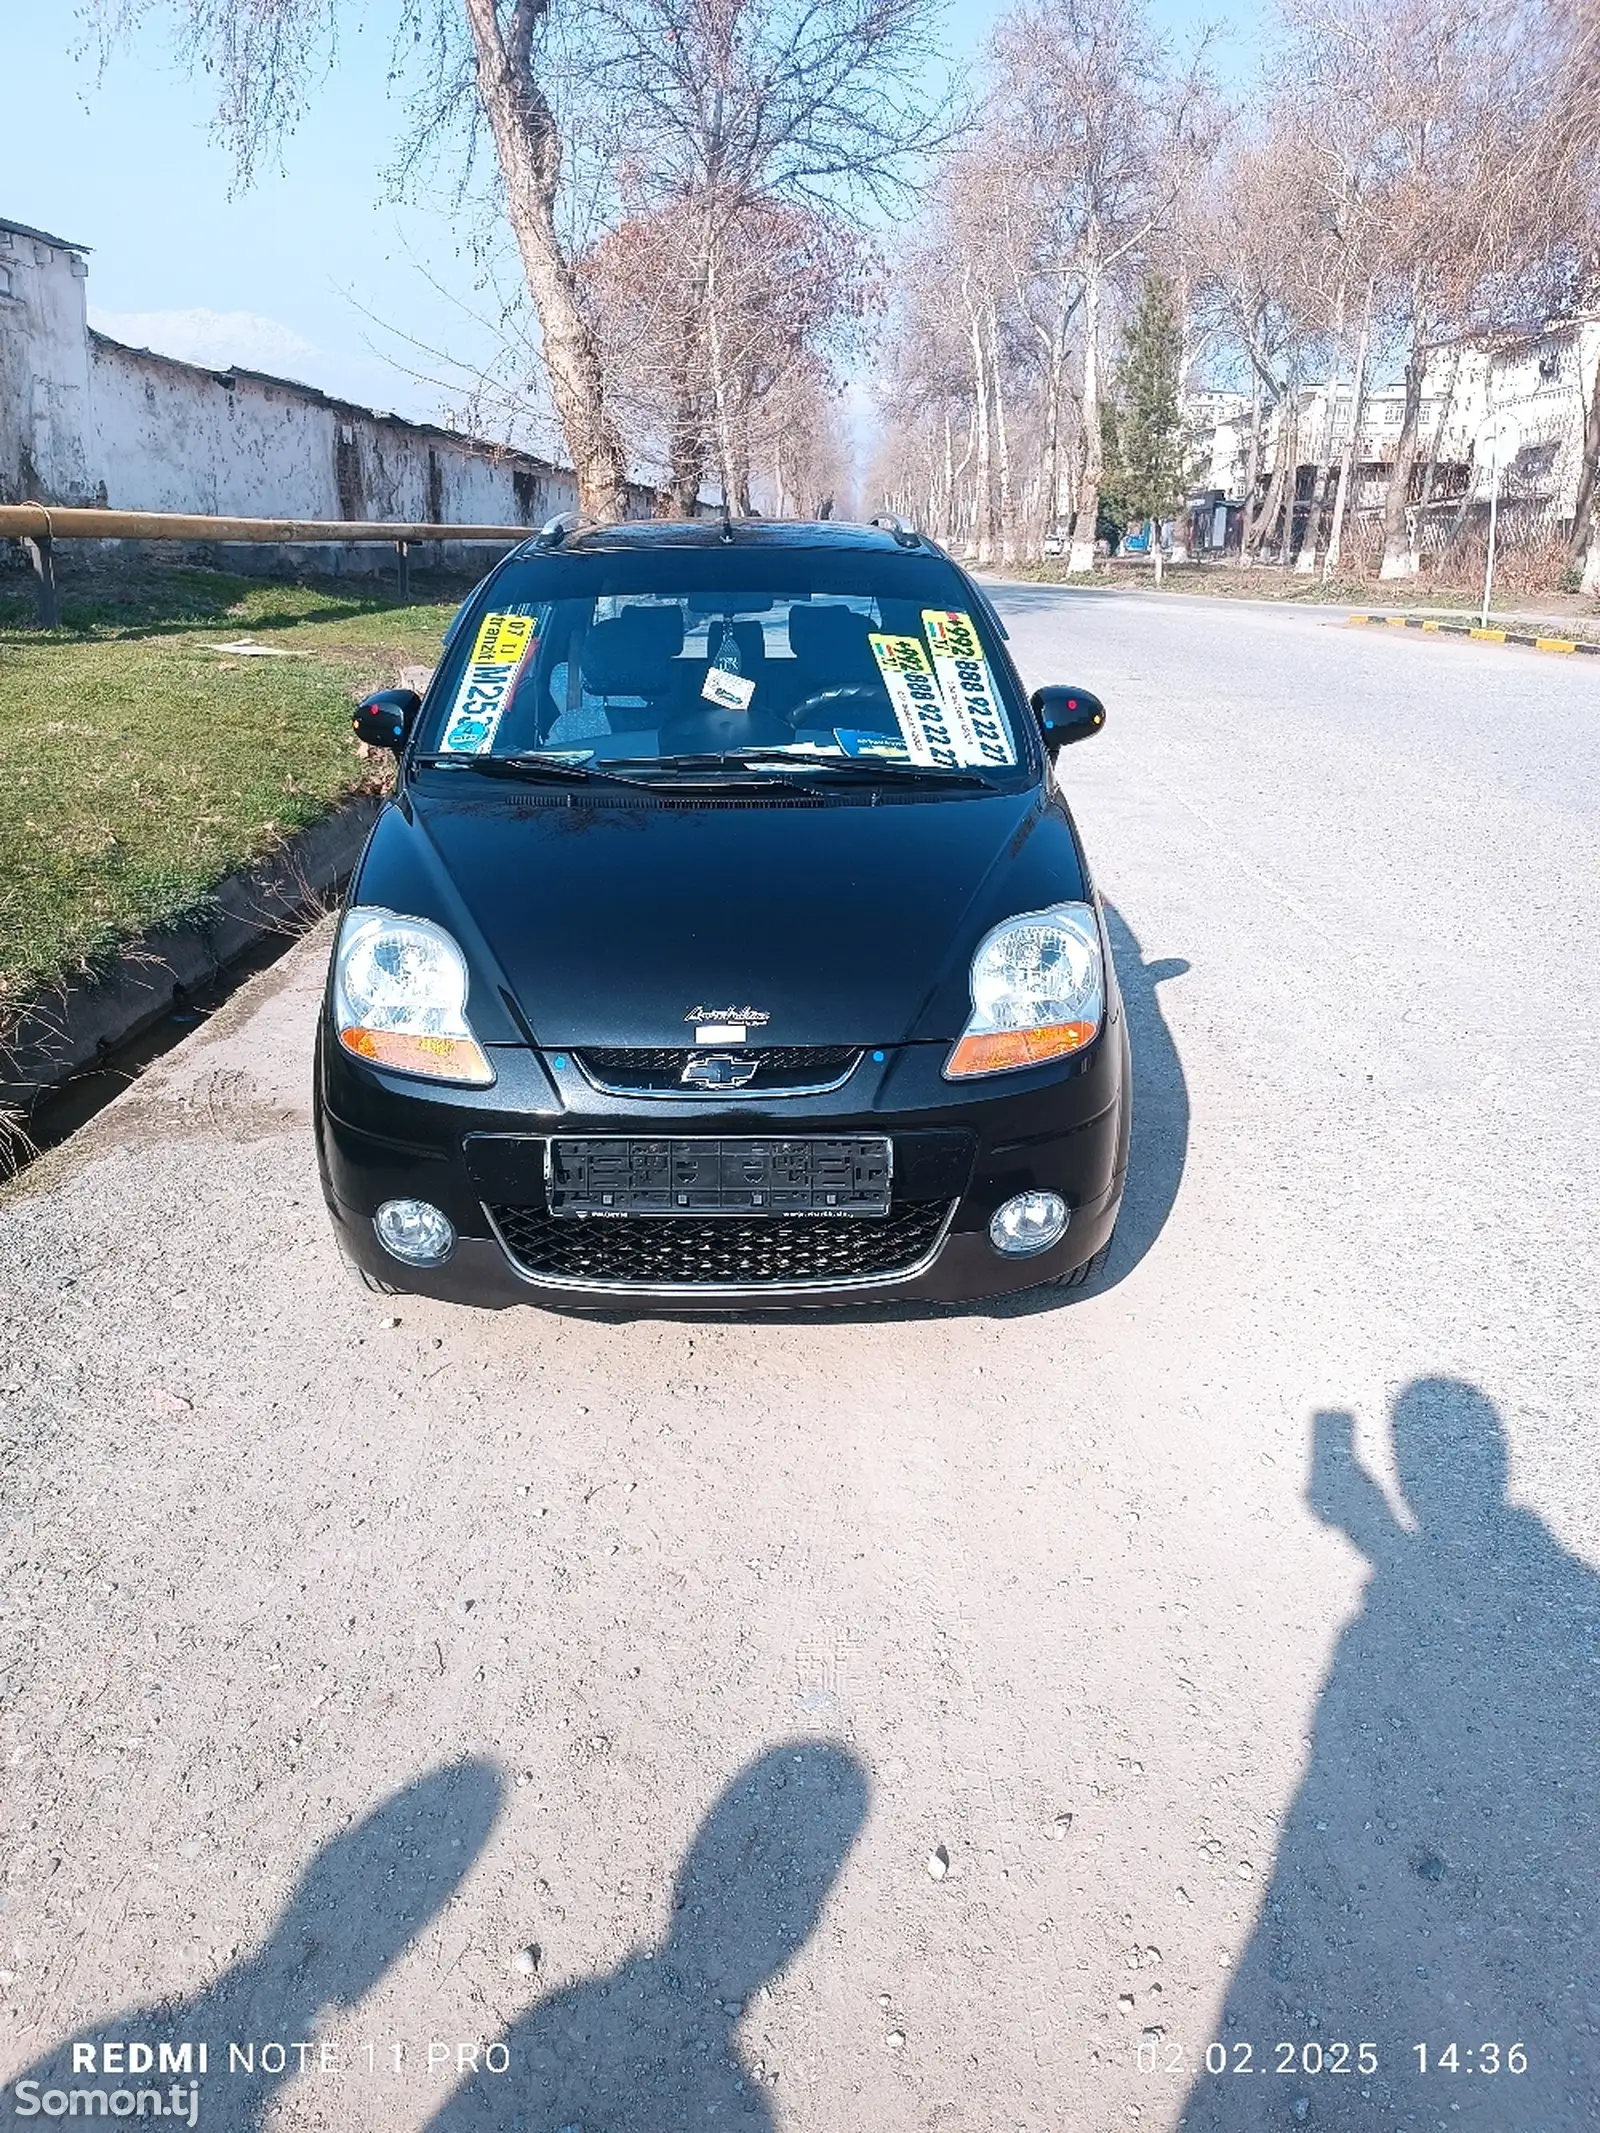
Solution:
<svg viewBox="0 0 1600 2133"><path fill-rule="evenodd" d="M431 665L463 587L73 572L62 627L0 578L0 1030L373 787L352 697ZM247 638L292 657L218 651Z"/></svg>

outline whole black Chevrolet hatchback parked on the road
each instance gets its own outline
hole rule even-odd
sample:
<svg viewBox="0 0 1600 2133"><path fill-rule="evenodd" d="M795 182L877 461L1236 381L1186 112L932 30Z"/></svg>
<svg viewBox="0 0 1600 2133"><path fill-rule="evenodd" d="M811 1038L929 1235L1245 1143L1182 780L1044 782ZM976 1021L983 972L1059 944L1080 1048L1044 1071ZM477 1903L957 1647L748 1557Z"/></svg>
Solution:
<svg viewBox="0 0 1600 2133"><path fill-rule="evenodd" d="M1129 1037L1022 693L896 520L570 527L506 557L350 885L316 1135L369 1286L736 1308L1077 1284Z"/></svg>

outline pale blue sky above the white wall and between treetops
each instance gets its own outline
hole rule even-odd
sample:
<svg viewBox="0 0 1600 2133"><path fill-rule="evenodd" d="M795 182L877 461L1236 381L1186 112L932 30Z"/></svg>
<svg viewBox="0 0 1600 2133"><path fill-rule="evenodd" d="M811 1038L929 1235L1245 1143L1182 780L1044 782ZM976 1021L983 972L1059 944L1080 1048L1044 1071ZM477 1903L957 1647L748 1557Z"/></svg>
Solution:
<svg viewBox="0 0 1600 2133"><path fill-rule="evenodd" d="M956 66L1001 4L951 0ZM1220 21L1222 64L1242 75L1263 4L1156 0L1156 13L1173 36ZM66 0L0 0L0 215L92 247L90 316L117 339L435 418L459 405L461 382L407 375L437 365L399 335L471 365L493 333L448 203L384 198L401 128L384 81L393 0L348 13L341 62L284 169L230 192L207 83L179 73L160 34L139 34L100 81Z"/></svg>

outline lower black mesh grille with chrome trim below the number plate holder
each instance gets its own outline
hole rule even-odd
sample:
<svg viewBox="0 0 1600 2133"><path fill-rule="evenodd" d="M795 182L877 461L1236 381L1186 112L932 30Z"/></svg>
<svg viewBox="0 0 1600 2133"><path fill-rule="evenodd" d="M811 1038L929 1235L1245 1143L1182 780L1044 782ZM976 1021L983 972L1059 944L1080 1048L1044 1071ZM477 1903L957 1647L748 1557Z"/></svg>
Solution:
<svg viewBox="0 0 1600 2133"><path fill-rule="evenodd" d="M491 1207L525 1273L634 1288L789 1288L866 1282L926 1258L949 1201L911 1201L881 1220L845 1216L548 1216Z"/></svg>

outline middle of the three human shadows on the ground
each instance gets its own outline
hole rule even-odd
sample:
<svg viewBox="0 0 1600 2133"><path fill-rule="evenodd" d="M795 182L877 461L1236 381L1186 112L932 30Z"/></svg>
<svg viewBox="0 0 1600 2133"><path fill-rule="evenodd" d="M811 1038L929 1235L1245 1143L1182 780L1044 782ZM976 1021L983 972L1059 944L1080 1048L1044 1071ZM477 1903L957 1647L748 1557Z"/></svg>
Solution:
<svg viewBox="0 0 1600 2133"><path fill-rule="evenodd" d="M512 2022L499 2039L506 2073L471 2075L429 2133L774 2127L779 2069L753 2048L745 2056L738 2022L811 1937L866 1800L866 1773L845 1749L768 1749L700 1824L666 1941ZM747 2033L759 2026L759 2003L751 2016Z"/></svg>

